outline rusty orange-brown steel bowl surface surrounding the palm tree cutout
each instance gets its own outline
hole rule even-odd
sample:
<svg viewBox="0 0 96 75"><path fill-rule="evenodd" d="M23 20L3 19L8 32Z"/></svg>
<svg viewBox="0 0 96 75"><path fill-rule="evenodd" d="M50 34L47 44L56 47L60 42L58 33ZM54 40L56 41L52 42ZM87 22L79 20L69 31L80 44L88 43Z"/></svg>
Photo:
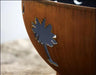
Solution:
<svg viewBox="0 0 96 75"><path fill-rule="evenodd" d="M96 75L96 8L49 1L22 1L28 35L41 57L58 75ZM48 62L43 45L32 31L32 22L46 19L58 44L48 47L58 67ZM39 61L38 61L39 62Z"/></svg>

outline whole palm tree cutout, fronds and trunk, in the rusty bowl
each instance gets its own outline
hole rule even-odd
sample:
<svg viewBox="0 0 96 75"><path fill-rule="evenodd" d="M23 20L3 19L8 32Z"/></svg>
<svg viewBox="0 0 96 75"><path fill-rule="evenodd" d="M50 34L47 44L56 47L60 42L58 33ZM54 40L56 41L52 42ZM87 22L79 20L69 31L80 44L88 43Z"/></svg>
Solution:
<svg viewBox="0 0 96 75"><path fill-rule="evenodd" d="M41 43L45 48L45 52L48 56L48 61L51 64L58 66L52 60L47 49L47 45L53 47L54 44L57 44L57 42L53 39L56 35L51 33L51 29L52 29L51 25L49 24L47 27L45 27L45 19L43 19L42 23L40 24L38 18L36 18L35 24L32 22L32 26L33 26L32 30L35 34L35 37L37 38L38 42Z"/></svg>

